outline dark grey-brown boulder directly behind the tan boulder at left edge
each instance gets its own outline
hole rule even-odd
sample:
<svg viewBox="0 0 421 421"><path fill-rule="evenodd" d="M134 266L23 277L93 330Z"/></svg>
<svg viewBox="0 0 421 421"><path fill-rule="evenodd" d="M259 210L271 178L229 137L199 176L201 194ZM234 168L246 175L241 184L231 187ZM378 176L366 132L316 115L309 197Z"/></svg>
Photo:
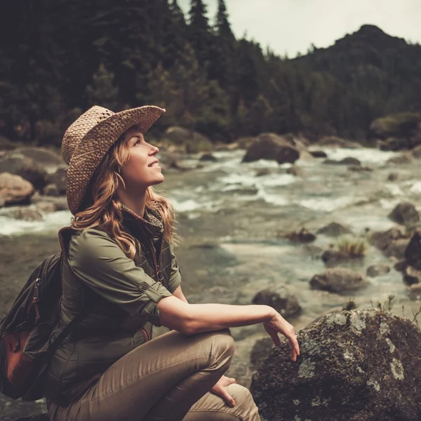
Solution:
<svg viewBox="0 0 421 421"><path fill-rule="evenodd" d="M46 170L41 164L17 152L8 152L0 158L0 173L11 173L29 181L37 190L46 185Z"/></svg>

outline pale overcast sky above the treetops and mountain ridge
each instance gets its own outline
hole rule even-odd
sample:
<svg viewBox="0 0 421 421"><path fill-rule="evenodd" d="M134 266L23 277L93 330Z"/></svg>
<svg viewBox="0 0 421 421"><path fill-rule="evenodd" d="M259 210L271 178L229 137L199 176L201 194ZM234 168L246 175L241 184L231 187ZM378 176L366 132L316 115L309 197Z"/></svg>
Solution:
<svg viewBox="0 0 421 421"><path fill-rule="evenodd" d="M213 23L218 0L203 0ZM190 0L178 0L185 13ZM335 44L361 25L380 27L392 36L421 44L421 0L225 0L236 38L267 46L293 58Z"/></svg>

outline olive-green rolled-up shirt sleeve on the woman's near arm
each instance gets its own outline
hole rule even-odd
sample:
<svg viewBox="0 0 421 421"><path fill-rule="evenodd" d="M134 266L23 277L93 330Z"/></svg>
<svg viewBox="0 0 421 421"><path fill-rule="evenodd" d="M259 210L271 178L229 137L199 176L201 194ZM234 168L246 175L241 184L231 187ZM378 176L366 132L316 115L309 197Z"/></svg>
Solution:
<svg viewBox="0 0 421 421"><path fill-rule="evenodd" d="M159 324L157 303L171 292L137 267L105 232L85 229L69 243L69 266L102 298Z"/></svg>

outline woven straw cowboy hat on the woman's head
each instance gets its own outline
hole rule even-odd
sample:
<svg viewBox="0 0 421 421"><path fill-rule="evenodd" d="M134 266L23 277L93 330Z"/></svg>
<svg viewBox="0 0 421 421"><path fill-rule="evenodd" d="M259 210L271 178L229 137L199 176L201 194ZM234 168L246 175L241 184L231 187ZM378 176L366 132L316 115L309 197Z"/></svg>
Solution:
<svg viewBox="0 0 421 421"><path fill-rule="evenodd" d="M62 141L62 156L67 169L67 204L73 215L86 194L89 182L102 159L120 136L138 124L145 133L165 109L145 105L112 112L94 105L74 121Z"/></svg>

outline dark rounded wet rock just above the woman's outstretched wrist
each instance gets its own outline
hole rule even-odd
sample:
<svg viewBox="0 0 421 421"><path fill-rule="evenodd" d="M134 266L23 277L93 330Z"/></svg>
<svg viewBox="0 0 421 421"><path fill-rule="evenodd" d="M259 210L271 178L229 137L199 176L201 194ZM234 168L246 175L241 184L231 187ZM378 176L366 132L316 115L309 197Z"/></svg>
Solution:
<svg viewBox="0 0 421 421"><path fill-rule="evenodd" d="M301 312L297 298L290 294L285 287L262 290L253 297L252 302L253 304L269 305L283 317L295 316Z"/></svg>

